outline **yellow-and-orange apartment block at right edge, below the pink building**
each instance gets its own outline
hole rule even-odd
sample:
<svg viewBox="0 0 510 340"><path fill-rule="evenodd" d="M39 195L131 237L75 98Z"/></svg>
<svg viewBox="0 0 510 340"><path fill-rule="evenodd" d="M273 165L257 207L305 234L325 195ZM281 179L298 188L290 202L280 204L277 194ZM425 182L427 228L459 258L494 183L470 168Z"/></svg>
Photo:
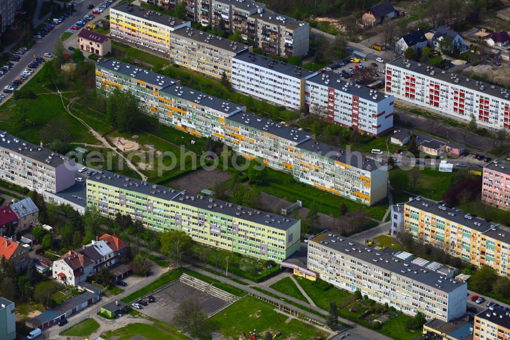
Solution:
<svg viewBox="0 0 510 340"><path fill-rule="evenodd" d="M403 230L424 244L431 244L476 266L489 265L509 276L510 231L499 224L418 197L393 215L403 214Z"/></svg>

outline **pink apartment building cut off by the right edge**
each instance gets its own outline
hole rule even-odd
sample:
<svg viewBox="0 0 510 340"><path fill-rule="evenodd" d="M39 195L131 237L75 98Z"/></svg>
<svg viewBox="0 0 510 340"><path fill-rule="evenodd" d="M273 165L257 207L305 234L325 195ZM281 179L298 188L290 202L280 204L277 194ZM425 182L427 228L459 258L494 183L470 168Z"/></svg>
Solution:
<svg viewBox="0 0 510 340"><path fill-rule="evenodd" d="M496 160L483 167L481 199L499 209L510 209L510 163Z"/></svg>

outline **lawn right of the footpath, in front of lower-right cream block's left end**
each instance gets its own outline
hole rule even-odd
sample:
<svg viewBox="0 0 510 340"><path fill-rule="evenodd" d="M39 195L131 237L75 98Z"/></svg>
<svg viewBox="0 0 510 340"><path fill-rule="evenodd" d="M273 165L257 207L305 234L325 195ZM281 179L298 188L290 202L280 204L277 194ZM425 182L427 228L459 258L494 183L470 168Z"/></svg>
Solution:
<svg viewBox="0 0 510 340"><path fill-rule="evenodd" d="M324 310L329 310L331 301L335 301L340 309L354 301L353 294L346 290L337 289L333 285L327 285L324 281L314 282L297 276L294 276L294 278L317 307ZM326 289L323 289L323 287L326 287Z"/></svg>

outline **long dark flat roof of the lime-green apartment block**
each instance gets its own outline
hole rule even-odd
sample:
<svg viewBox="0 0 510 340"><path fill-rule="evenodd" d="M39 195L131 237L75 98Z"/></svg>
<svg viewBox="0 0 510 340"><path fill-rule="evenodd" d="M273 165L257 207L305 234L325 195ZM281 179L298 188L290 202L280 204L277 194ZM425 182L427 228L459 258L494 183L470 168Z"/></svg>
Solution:
<svg viewBox="0 0 510 340"><path fill-rule="evenodd" d="M147 196L159 197L162 200L186 203L199 209L215 211L217 213L230 215L243 220L252 221L281 230L287 230L296 224L297 220L286 216L280 216L260 210L246 208L237 204L172 189L158 184L143 182L138 179L114 174L109 171L99 171L87 179L87 182L99 182L119 187L121 190L130 190L142 193Z"/></svg>

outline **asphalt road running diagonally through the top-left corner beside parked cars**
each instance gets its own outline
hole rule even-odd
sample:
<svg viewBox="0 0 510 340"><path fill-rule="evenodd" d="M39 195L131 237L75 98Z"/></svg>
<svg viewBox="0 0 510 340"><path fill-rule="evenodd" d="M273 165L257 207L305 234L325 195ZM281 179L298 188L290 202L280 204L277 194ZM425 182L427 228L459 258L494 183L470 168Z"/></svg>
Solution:
<svg viewBox="0 0 510 340"><path fill-rule="evenodd" d="M37 42L34 44L34 46L27 52L25 55L21 56L21 60L18 62L12 61L14 66L7 72L6 75L0 77L0 91L4 90L4 87L7 86L9 83L11 83L16 77L18 77L25 68L27 68L28 64L30 64L35 57L42 57L44 53L49 52L53 54L54 46L56 42L60 39L62 34L69 29L72 25L74 25L75 22L79 21L81 18L85 16L85 14L89 13L90 10L87 9L87 6L89 4L99 5L100 1L93 1L93 0L85 0L83 3L77 5L75 7L75 12L73 15L66 18L60 25L55 25L55 28L48 33L44 38L37 40ZM45 58L47 59L47 58ZM35 72L32 76L29 77L32 78L34 75L41 69L42 65L39 65L35 69ZM24 83L23 83L24 84ZM18 87L19 89L20 87ZM11 94L4 93L7 98L2 101L5 103L7 99L10 98Z"/></svg>

